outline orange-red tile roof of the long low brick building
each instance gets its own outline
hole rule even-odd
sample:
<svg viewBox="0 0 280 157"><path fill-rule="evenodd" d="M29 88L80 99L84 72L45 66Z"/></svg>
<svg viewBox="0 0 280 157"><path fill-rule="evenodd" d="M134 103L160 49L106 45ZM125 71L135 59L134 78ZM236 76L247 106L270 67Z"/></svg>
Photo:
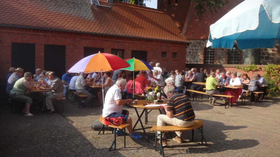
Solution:
<svg viewBox="0 0 280 157"><path fill-rule="evenodd" d="M114 1L112 7L90 0L1 0L0 25L184 42L165 11Z"/></svg>

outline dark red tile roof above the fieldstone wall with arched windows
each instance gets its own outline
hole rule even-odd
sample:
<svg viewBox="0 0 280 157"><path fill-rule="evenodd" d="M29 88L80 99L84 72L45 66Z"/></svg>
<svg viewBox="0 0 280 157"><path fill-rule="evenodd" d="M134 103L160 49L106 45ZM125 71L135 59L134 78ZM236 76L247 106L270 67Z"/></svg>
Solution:
<svg viewBox="0 0 280 157"><path fill-rule="evenodd" d="M192 11L191 19L189 21L186 38L188 40L208 39L210 25L215 23L222 16L226 15L227 12L229 12L231 9L233 9L243 1L244 0L231 0L224 7L218 9L217 12L213 11L211 13L210 11L205 11L205 14L203 14L203 17L200 20L197 20L195 18L196 10L194 9Z"/></svg>

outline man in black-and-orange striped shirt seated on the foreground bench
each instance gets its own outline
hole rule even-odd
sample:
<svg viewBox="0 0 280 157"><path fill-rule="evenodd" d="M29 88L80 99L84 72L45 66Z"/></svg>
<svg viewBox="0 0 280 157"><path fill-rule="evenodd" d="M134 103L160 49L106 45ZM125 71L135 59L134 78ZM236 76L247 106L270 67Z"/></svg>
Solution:
<svg viewBox="0 0 280 157"><path fill-rule="evenodd" d="M163 91L168 97L167 105L164 105L166 114L160 114L157 116L156 125L165 126L166 124L171 124L182 128L193 126L195 114L189 98L184 94L175 92L175 87L172 85L165 86ZM177 137L174 137L173 140L177 141L178 143L183 143L181 138L182 132L175 133L177 134ZM166 145L167 142L165 140L164 133L162 146Z"/></svg>

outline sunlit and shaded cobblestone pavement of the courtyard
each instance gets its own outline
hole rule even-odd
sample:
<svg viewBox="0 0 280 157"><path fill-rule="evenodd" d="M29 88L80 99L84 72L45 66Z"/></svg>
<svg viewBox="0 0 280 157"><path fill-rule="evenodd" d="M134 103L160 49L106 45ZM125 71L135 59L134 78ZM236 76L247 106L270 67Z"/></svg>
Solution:
<svg viewBox="0 0 280 157"><path fill-rule="evenodd" d="M154 138L147 142L143 137L140 140L127 137L126 148L123 137L117 137L117 150L108 152L114 138L111 132L98 135L98 131L91 129L91 123L102 114L102 107L95 102L96 99L93 108L78 109L78 101L68 99L63 113L46 114L32 109L34 117L10 113L11 105L1 102L0 156L161 156L154 150ZM205 122L203 134L209 147L199 144L199 133L195 132L195 142L191 142L191 132L183 132L182 144L167 136L166 156L279 156L280 98L268 97L257 103L246 101L245 106L229 109L220 100L215 106L208 99L191 103L196 120ZM129 111L134 124L137 119L134 108L124 106L124 109ZM156 125L158 114L157 110L149 113L145 126ZM148 136L154 135L150 129L146 131ZM138 133L143 135L142 131Z"/></svg>

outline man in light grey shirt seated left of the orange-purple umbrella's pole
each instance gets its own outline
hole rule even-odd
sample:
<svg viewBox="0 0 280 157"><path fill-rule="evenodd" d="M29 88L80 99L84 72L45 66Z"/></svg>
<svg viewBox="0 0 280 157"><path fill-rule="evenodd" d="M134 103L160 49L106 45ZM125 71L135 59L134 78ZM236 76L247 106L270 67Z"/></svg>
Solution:
<svg viewBox="0 0 280 157"><path fill-rule="evenodd" d="M76 92L78 94L84 94L87 95L86 103L89 103L91 101L91 93L85 90L85 87L88 85L92 85L92 82L86 82L84 79L86 77L86 73L81 72L80 76L77 78L75 83ZM82 101L82 107L86 107L85 101Z"/></svg>

